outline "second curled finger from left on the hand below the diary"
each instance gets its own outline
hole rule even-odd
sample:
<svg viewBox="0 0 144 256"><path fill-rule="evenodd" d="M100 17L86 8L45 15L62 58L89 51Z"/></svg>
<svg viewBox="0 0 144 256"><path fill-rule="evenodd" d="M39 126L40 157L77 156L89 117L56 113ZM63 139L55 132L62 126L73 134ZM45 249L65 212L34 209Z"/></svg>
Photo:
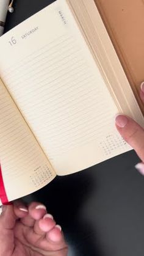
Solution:
<svg viewBox="0 0 144 256"><path fill-rule="evenodd" d="M38 202L32 202L28 207L28 212L26 217L21 218L21 222L27 227L34 227L35 221L43 218L46 214L46 207Z"/></svg>

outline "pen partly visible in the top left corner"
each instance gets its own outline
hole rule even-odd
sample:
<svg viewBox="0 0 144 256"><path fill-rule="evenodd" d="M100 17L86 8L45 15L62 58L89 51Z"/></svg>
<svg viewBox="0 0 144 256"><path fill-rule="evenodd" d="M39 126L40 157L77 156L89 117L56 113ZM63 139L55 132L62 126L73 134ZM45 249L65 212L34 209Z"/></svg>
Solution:
<svg viewBox="0 0 144 256"><path fill-rule="evenodd" d="M9 0L0 0L0 36L4 32L4 25L9 8Z"/></svg>

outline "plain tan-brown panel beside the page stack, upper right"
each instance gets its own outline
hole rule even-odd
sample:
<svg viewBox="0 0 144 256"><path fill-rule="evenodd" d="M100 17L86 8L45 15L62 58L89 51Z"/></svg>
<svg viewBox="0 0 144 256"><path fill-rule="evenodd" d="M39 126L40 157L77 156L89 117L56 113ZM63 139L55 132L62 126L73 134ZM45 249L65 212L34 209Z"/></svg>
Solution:
<svg viewBox="0 0 144 256"><path fill-rule="evenodd" d="M95 0L135 97L144 81L144 0Z"/></svg>

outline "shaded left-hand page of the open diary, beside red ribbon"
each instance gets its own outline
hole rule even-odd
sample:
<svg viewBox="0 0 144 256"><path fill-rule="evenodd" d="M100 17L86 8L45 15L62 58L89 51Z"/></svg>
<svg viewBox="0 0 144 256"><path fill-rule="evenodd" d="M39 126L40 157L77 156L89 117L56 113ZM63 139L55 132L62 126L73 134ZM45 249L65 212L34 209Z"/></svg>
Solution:
<svg viewBox="0 0 144 256"><path fill-rule="evenodd" d="M0 145L2 177L9 201L40 189L55 177L48 159L1 79ZM41 176L38 181L37 172Z"/></svg>

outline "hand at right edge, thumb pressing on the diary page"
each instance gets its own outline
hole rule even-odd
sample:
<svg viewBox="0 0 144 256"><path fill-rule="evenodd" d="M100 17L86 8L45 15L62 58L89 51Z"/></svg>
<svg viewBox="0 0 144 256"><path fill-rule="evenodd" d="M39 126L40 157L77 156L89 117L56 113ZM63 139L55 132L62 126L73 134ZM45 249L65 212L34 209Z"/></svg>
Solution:
<svg viewBox="0 0 144 256"><path fill-rule="evenodd" d="M140 86L140 98L144 103L144 82ZM142 163L135 167L144 175L144 130L134 120L126 115L117 115L115 119L117 130L123 137L124 141L128 142L142 160Z"/></svg>

